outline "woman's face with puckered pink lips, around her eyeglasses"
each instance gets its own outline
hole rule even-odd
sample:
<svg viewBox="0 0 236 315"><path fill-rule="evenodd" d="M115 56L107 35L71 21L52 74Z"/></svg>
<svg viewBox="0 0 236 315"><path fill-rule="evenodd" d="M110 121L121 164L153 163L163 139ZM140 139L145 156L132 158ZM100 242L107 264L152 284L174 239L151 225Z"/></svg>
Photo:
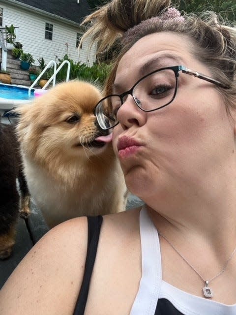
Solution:
<svg viewBox="0 0 236 315"><path fill-rule="evenodd" d="M141 38L122 57L113 93L128 91L144 75L166 66L181 64L212 77L190 51L194 47L188 38L171 32ZM171 104L144 112L128 95L118 120L114 150L128 189L144 201L204 189L235 150L234 126L216 86L181 71Z"/></svg>

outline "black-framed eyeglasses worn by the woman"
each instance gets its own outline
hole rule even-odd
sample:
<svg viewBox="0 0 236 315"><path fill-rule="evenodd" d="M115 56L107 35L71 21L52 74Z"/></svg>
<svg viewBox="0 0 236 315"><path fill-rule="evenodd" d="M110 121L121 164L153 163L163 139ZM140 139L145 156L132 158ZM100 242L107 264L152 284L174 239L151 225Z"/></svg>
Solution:
<svg viewBox="0 0 236 315"><path fill-rule="evenodd" d="M128 95L132 95L135 104L145 112L152 112L169 105L177 94L179 71L213 83L221 88L229 88L221 82L190 70L183 65L161 68L138 80L129 91L102 98L95 106L95 115L99 126L106 130L119 123L117 112Z"/></svg>

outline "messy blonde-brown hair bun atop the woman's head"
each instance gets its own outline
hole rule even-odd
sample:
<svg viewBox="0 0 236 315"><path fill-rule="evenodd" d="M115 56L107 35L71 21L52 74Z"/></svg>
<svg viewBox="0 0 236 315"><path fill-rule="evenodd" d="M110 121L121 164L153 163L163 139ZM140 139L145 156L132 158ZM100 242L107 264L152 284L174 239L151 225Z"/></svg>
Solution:
<svg viewBox="0 0 236 315"><path fill-rule="evenodd" d="M89 36L92 43L99 43L98 53L108 50L124 32L166 11L170 3L171 0L112 0L83 21L90 25L82 41Z"/></svg>

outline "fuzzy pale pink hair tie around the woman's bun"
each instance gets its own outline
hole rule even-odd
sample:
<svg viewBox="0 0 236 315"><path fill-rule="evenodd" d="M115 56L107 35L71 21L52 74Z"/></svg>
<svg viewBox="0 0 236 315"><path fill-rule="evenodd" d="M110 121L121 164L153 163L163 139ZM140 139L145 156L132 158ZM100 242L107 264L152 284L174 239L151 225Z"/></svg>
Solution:
<svg viewBox="0 0 236 315"><path fill-rule="evenodd" d="M183 16L181 16L180 12L176 8L168 8L164 13L158 16L153 16L152 18L144 20L138 25L135 25L132 28L128 29L122 36L122 43L129 43L130 41L132 41L134 35L139 33L146 26L154 24L157 21L174 21L176 23L182 23L185 21L185 19Z"/></svg>

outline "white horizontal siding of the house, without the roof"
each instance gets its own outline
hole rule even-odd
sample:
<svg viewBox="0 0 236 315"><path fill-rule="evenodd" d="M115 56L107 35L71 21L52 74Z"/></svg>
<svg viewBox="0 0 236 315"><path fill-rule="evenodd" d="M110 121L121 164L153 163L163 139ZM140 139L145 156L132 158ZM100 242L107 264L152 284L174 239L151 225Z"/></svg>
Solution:
<svg viewBox="0 0 236 315"><path fill-rule="evenodd" d="M0 1L3 8L2 27L5 25L18 27L17 41L23 44L23 51L30 53L35 64L37 59L43 57L45 62L61 59L67 53L74 62L88 63L95 62L95 45L88 55L89 42L83 42L83 47L78 51L76 48L76 35L81 32L79 26L68 25L57 19L40 14L38 11L29 12ZM53 24L53 40L45 39L45 23ZM68 49L66 48L68 44Z"/></svg>

